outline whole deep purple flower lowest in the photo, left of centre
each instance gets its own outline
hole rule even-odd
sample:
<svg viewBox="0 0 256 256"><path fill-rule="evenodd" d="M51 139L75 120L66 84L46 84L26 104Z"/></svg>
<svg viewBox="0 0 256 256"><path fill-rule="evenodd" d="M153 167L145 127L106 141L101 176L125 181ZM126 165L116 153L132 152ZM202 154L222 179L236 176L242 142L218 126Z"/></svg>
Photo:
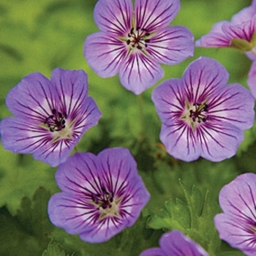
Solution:
<svg viewBox="0 0 256 256"><path fill-rule="evenodd" d="M132 226L150 197L125 148L77 153L59 165L56 182L63 192L50 198L51 222L89 243Z"/></svg>

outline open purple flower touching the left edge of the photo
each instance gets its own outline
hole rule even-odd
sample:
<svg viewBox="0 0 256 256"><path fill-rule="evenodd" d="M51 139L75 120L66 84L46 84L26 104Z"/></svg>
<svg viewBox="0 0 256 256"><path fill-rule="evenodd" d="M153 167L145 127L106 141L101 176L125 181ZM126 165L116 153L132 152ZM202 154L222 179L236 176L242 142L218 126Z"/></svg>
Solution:
<svg viewBox="0 0 256 256"><path fill-rule="evenodd" d="M101 113L88 97L83 70L54 69L50 80L40 73L23 78L7 95L14 117L1 121L5 149L34 155L51 166L65 162Z"/></svg>

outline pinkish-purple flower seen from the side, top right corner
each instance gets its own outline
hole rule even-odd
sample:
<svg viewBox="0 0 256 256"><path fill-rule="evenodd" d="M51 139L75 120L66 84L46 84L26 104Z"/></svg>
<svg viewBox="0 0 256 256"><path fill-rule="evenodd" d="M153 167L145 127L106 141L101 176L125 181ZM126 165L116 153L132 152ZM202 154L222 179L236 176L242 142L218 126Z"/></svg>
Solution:
<svg viewBox="0 0 256 256"><path fill-rule="evenodd" d="M233 47L246 51L249 58L256 59L256 1L233 15L231 22L220 21L211 31L196 41L203 47Z"/></svg>

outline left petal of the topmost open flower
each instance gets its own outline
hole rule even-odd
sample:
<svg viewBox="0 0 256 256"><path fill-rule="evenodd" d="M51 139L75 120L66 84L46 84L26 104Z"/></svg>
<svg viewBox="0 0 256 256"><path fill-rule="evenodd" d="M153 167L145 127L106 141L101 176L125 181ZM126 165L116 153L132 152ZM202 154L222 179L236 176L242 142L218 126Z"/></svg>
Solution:
<svg viewBox="0 0 256 256"><path fill-rule="evenodd" d="M83 53L97 75L109 78L119 72L120 65L127 55L127 45L105 32L98 32L86 38Z"/></svg>

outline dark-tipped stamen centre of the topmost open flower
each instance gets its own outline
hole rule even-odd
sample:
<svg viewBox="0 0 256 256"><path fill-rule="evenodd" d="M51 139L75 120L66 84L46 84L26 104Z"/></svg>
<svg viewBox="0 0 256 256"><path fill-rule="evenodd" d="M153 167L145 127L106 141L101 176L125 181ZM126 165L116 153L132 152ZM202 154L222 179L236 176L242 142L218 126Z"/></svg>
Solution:
<svg viewBox="0 0 256 256"><path fill-rule="evenodd" d="M140 27L132 28L128 34L127 45L143 50L148 47L147 43L150 42L149 36L150 33L146 29L141 29Z"/></svg>

